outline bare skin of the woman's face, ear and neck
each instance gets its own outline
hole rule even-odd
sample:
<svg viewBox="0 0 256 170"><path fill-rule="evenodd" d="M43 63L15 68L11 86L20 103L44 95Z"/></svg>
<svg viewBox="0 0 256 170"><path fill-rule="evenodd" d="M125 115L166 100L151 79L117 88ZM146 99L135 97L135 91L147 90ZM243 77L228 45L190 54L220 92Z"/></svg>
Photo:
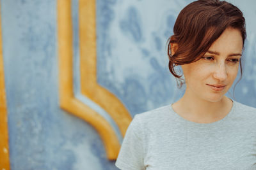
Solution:
<svg viewBox="0 0 256 170"><path fill-rule="evenodd" d="M172 45L173 53L177 46ZM172 104L173 110L197 123L211 123L224 118L232 108L232 101L225 94L236 79L242 50L241 32L228 27L202 59L182 65L186 92Z"/></svg>

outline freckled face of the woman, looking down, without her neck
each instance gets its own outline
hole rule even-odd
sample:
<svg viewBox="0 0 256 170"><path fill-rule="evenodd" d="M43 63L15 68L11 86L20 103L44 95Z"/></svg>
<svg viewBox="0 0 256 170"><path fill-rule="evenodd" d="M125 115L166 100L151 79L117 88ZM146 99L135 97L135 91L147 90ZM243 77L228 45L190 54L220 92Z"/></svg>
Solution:
<svg viewBox="0 0 256 170"><path fill-rule="evenodd" d="M241 32L228 27L202 59L182 65L186 93L211 102L220 101L236 79L242 50Z"/></svg>

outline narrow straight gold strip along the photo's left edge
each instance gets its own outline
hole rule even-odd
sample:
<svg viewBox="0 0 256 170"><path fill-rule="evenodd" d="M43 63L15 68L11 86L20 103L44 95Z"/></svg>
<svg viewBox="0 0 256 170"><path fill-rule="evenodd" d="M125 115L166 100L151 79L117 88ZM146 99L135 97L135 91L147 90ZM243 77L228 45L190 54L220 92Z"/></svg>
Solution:
<svg viewBox="0 0 256 170"><path fill-rule="evenodd" d="M1 6L0 6L1 7ZM1 13L1 11L0 11ZM6 94L4 87L4 62L2 47L2 25L0 16L0 169L10 169L8 145L8 116L6 107Z"/></svg>

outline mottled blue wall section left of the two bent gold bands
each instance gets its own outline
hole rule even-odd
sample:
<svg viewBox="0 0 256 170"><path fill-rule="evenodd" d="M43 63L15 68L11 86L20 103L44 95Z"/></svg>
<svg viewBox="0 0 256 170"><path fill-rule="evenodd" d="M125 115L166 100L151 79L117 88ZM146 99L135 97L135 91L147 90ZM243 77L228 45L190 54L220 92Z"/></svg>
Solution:
<svg viewBox="0 0 256 170"><path fill-rule="evenodd" d="M12 169L116 169L93 127L60 109L56 1L1 1Z"/></svg>

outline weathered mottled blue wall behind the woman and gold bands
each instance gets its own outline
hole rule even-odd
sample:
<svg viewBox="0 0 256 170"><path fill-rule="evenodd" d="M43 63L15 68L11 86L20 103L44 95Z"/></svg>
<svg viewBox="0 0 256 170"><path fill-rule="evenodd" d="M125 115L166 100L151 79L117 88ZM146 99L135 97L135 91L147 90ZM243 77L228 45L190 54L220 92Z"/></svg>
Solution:
<svg viewBox="0 0 256 170"><path fill-rule="evenodd" d="M97 1L97 79L132 116L182 95L168 71L166 40L189 2ZM256 3L230 2L244 12L248 31L235 98L256 107ZM95 129L59 107L56 1L1 1L1 19L12 169L116 169Z"/></svg>

